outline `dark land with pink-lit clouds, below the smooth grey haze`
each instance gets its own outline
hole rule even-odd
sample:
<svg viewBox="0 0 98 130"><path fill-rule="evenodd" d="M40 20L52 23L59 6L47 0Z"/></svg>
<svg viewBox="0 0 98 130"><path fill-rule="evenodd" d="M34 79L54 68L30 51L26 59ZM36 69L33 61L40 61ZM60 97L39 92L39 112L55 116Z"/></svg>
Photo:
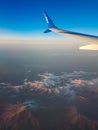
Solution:
<svg viewBox="0 0 98 130"><path fill-rule="evenodd" d="M17 86L1 83L0 128L97 130L97 75L85 71L44 73L39 74L41 80L26 80Z"/></svg>

